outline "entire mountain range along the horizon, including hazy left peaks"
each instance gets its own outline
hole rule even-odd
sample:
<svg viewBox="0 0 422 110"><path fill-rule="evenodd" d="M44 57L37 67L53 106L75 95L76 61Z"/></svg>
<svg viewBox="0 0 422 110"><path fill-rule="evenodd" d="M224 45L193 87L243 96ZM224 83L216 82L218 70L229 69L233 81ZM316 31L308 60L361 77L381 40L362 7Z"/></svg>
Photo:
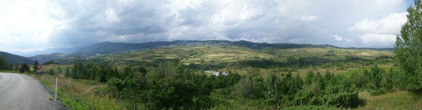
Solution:
<svg viewBox="0 0 422 110"><path fill-rule="evenodd" d="M154 41L154 42L143 42L143 43L112 43L112 42L102 42L95 43L91 46L80 46L73 48L47 48L43 51L35 51L23 56L16 55L10 57L16 60L9 61L12 64L19 62L30 62L37 60L40 64L43 62L48 62L52 59L65 59L74 56L86 56L86 55L95 55L95 54L111 54L111 53L120 53L124 51L131 50L140 50L147 48L154 48L157 46L168 46L176 43L197 43L197 42L219 42L219 43L229 43L237 46L245 46L249 48L262 48L262 47L271 47L271 48L341 48L332 45L313 45L313 44L294 44L294 43L254 43L250 41L240 40L240 41L229 41L229 40L175 40L175 41ZM345 49L371 49L379 51L394 50L394 48L345 48ZM5 53L5 52L3 52ZM52 53L52 54L51 54ZM9 54L9 53L7 53ZM12 54L13 55L13 54ZM10 55L8 55L10 56ZM24 59L25 58L25 59ZM31 64L31 63L30 63Z"/></svg>

